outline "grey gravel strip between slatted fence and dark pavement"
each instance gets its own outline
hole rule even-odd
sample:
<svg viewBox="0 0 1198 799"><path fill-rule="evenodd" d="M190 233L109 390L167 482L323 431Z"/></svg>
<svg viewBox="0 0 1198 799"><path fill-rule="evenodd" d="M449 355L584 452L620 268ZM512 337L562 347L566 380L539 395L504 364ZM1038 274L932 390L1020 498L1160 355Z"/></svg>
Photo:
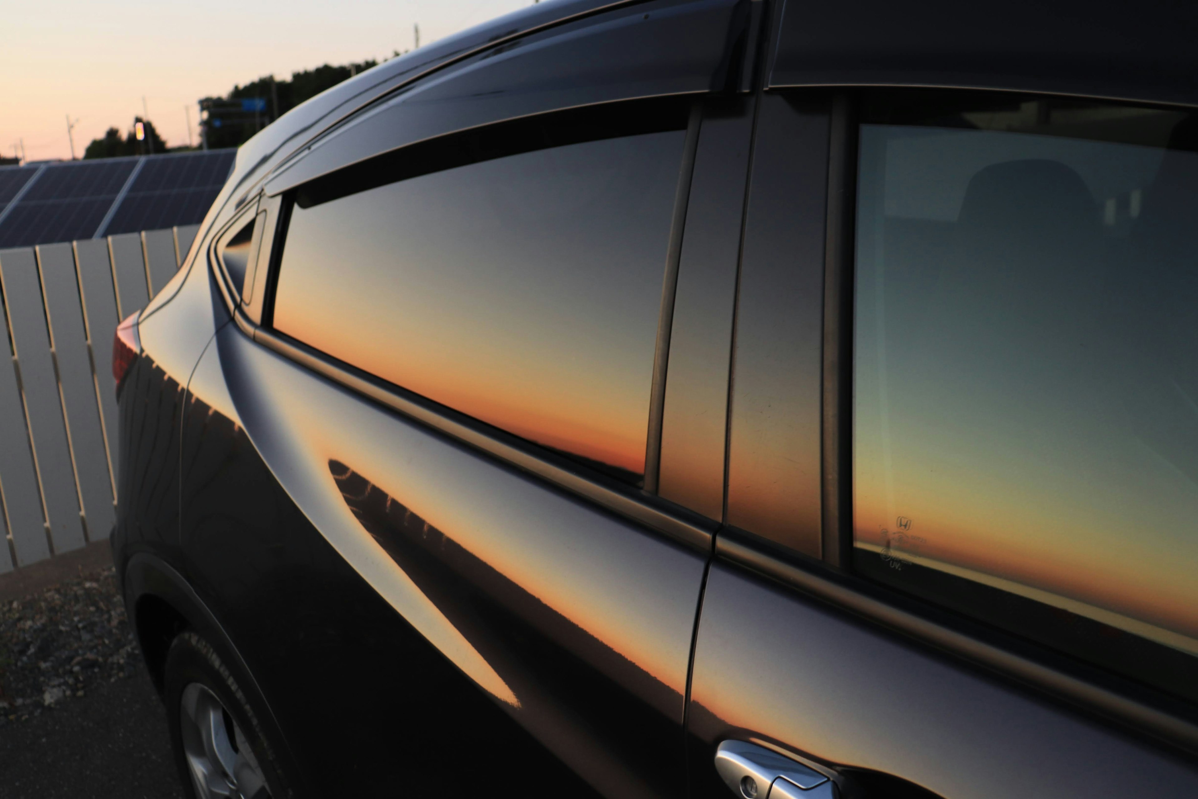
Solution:
<svg viewBox="0 0 1198 799"><path fill-rule="evenodd" d="M132 677L141 654L111 568L0 607L0 730L101 683Z"/></svg>

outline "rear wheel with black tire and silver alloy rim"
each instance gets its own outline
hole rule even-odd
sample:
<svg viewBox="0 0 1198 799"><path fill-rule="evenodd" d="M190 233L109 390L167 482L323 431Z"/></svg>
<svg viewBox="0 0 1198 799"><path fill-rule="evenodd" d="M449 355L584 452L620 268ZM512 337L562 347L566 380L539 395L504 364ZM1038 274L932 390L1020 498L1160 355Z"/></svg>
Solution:
<svg viewBox="0 0 1198 799"><path fill-rule="evenodd" d="M167 653L163 698L188 799L294 799L274 745L220 655L180 632Z"/></svg>

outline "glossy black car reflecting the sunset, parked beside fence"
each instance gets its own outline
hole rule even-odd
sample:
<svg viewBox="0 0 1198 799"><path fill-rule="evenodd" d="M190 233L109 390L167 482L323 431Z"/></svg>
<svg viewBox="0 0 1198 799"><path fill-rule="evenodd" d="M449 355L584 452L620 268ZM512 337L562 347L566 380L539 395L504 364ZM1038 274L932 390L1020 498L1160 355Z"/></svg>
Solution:
<svg viewBox="0 0 1198 799"><path fill-rule="evenodd" d="M568 0L126 320L190 797L1198 797L1198 12Z"/></svg>

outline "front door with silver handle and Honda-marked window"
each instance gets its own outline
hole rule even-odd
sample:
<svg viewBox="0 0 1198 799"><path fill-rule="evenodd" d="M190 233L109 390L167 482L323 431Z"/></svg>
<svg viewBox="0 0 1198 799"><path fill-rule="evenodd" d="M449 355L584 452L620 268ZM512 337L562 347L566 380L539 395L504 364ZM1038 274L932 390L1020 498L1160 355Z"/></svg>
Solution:
<svg viewBox="0 0 1198 799"><path fill-rule="evenodd" d="M1096 62L1054 83L1093 38L1004 38L1019 12L968 54L882 7L775 29L696 797L1198 791L1194 122L1091 99ZM1132 96L1192 104L1124 41L1160 23L1087 35ZM946 89L864 87L903 83Z"/></svg>

